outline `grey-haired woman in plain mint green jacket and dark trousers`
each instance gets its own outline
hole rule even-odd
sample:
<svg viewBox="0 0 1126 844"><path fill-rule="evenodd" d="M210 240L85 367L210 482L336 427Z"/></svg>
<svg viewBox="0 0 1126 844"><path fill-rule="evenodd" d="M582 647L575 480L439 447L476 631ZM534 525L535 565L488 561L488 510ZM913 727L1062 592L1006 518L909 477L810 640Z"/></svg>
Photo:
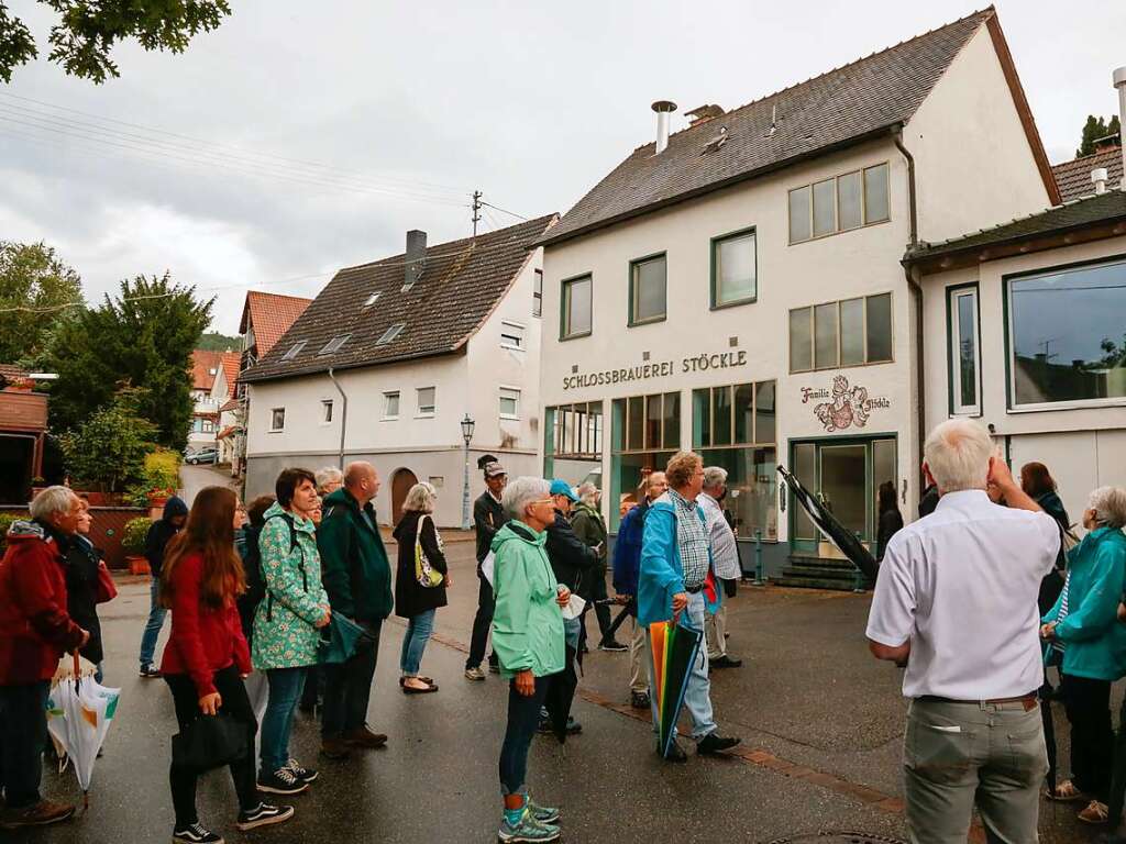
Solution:
<svg viewBox="0 0 1126 844"><path fill-rule="evenodd" d="M558 809L537 806L528 796L528 747L539 725L551 675L564 667L562 608L571 599L555 581L544 544L555 521L551 484L521 477L504 488L502 505L512 521L492 541L493 652L501 676L510 680L508 727L500 751L504 799L499 838L543 842L560 837Z"/></svg>

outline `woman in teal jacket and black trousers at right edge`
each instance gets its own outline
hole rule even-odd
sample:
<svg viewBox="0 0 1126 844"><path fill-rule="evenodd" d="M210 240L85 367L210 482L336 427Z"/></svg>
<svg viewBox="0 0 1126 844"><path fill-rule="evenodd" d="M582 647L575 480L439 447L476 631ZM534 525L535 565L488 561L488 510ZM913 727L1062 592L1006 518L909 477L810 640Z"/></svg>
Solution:
<svg viewBox="0 0 1126 844"><path fill-rule="evenodd" d="M1105 823L1110 792L1110 684L1126 676L1126 626L1117 620L1126 583L1126 490L1091 493L1088 533L1067 555L1063 592L1044 617L1040 635L1063 649L1060 697L1071 722L1072 779L1051 794L1090 800L1080 820Z"/></svg>

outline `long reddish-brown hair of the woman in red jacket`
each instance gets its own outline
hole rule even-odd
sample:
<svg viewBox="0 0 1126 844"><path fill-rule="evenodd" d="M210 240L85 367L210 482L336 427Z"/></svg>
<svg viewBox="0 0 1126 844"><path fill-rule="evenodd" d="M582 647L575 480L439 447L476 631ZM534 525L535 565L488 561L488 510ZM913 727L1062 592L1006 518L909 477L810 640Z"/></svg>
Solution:
<svg viewBox="0 0 1126 844"><path fill-rule="evenodd" d="M247 591L242 560L234 550L234 510L239 496L225 486L207 486L191 503L187 524L168 544L160 571L160 598L171 608L175 587L172 575L185 557L204 558L199 602L218 609Z"/></svg>

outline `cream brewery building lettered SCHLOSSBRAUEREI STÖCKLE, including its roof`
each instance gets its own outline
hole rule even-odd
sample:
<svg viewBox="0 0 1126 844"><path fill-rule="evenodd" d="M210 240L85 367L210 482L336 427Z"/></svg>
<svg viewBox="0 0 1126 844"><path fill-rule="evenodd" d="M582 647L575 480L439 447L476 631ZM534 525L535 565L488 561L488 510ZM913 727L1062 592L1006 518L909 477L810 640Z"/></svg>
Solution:
<svg viewBox="0 0 1126 844"><path fill-rule="evenodd" d="M901 259L1053 201L1013 79L986 11L635 151L543 241L545 473L601 479L614 529L647 470L700 451L730 473L744 568L759 538L795 585L835 554L779 464L873 548L881 485L910 520L920 311Z"/></svg>

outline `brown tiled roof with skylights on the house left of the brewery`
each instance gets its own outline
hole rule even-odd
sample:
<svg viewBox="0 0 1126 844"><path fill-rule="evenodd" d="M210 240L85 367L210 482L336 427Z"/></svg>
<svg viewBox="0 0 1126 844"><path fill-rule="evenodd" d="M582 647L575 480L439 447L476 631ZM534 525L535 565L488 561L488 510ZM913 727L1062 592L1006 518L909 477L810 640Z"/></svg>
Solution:
<svg viewBox="0 0 1126 844"><path fill-rule="evenodd" d="M403 290L399 254L342 269L275 343L241 376L243 383L348 369L457 352L480 327L525 266L533 241L557 218L551 214L519 225L429 246L421 278ZM378 300L364 306L373 293ZM530 305L529 305L530 307ZM402 332L376 342L393 325ZM333 338L350 334L336 352L321 354ZM285 353L305 345L291 360Z"/></svg>

